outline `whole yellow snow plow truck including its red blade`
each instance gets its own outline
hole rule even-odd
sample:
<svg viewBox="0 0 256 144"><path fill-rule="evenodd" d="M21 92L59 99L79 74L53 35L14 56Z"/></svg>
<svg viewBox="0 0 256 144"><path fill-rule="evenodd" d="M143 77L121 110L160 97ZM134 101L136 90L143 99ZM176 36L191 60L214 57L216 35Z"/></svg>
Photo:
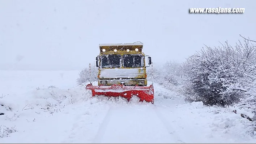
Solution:
<svg viewBox="0 0 256 144"><path fill-rule="evenodd" d="M153 84L148 86L146 67L151 57L142 52L143 43L99 44L96 57L98 86L86 86L92 96L124 97L128 101L137 96L140 101L154 104Z"/></svg>

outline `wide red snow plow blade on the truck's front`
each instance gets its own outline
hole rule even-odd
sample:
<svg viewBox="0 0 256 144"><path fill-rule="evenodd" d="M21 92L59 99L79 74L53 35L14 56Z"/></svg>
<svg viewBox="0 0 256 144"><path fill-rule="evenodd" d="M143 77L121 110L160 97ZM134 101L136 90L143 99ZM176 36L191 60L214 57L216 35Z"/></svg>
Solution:
<svg viewBox="0 0 256 144"><path fill-rule="evenodd" d="M154 104L154 88L151 84L149 87L144 86L124 86L114 84L112 86L93 86L88 84L86 90L91 90L93 96L108 96L108 97L124 97L128 101L132 96L137 96L140 101L151 102Z"/></svg>

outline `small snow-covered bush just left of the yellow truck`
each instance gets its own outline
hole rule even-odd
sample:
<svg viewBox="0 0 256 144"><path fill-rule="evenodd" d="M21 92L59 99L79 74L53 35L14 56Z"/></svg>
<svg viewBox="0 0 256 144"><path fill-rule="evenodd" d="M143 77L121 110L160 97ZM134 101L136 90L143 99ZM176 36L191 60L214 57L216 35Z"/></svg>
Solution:
<svg viewBox="0 0 256 144"><path fill-rule="evenodd" d="M98 67L96 67L95 64L91 65L91 70L90 67L85 67L79 72L79 77L77 78L76 82L77 85L82 85L83 83L91 81L97 81L98 80Z"/></svg>

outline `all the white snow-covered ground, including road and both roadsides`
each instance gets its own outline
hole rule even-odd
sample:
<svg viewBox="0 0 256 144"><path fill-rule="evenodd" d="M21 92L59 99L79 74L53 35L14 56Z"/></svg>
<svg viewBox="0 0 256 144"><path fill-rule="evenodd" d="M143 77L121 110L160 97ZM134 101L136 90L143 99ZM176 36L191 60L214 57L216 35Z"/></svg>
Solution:
<svg viewBox="0 0 256 144"><path fill-rule="evenodd" d="M155 83L154 105L90 97L77 77L78 71L0 71L1 143L256 141L239 109L187 103Z"/></svg>

